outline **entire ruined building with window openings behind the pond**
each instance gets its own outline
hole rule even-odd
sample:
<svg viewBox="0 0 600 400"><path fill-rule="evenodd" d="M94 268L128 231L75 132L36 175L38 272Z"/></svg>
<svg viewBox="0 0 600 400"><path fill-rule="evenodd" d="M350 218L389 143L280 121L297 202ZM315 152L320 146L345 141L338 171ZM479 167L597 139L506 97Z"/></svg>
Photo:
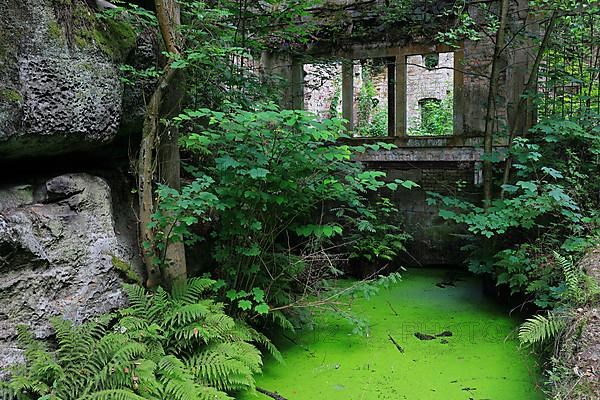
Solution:
<svg viewBox="0 0 600 400"><path fill-rule="evenodd" d="M417 263L423 264L461 259L461 232L438 217L438 209L427 204L427 192L455 193L474 200L481 195L481 155L494 42L491 36L483 35L478 40L440 44L440 32L453 24L444 10L454 3L415 1L404 14L392 16L393 2L386 0L326 1L312 12L320 27L318 39L301 50L265 52L261 60L268 74L287 82L286 107L304 108L322 117L343 117L353 140L386 141L397 146L371 152L360 160L370 168L386 170L390 179L410 179L420 185L392 196L415 238L410 250ZM497 11L497 4L481 7L480 3L465 7L475 21L483 22L489 17L486 14ZM510 21L514 32L539 30L522 0L512 2ZM514 118L533 63L528 45L515 40L502 55L496 131L504 130ZM370 69L370 76L366 69ZM366 100L373 102L370 107L375 110L368 122L379 124L376 132L367 135L361 129L364 104L359 104L365 101L361 98L365 77L371 85ZM428 118L428 107L444 103L450 115L445 130L435 135L419 130L423 119ZM374 119L377 113L380 116ZM501 151L502 141L496 146Z"/></svg>

